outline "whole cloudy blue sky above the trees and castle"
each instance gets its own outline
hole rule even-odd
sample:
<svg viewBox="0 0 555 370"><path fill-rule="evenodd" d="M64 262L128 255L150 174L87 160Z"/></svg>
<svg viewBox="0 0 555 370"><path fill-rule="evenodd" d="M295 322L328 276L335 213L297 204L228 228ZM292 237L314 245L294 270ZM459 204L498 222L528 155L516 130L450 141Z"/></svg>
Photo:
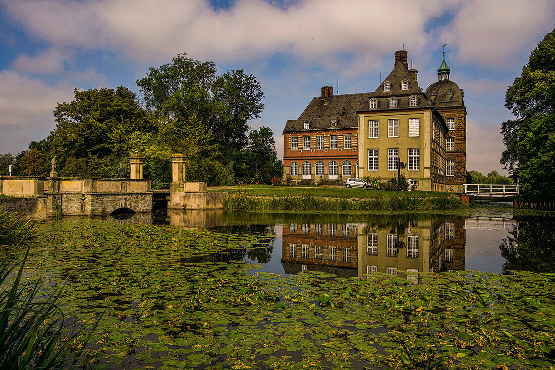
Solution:
<svg viewBox="0 0 555 370"><path fill-rule="evenodd" d="M0 153L54 128L73 89L127 86L178 53L244 69L261 82L279 156L287 119L322 86L374 91L404 47L418 83L437 79L447 43L451 80L465 91L468 169L501 171L507 86L552 31L553 1L0 0Z"/></svg>

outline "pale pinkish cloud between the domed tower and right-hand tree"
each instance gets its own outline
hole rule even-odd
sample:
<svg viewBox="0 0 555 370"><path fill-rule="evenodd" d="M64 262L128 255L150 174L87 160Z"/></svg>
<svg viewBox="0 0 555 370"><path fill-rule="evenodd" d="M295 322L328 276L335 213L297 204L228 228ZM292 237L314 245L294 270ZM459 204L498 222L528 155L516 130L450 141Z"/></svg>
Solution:
<svg viewBox="0 0 555 370"><path fill-rule="evenodd" d="M504 150L501 124L478 123L467 118L467 171L480 171L488 174L492 169L496 169L501 174L508 174L499 163Z"/></svg>

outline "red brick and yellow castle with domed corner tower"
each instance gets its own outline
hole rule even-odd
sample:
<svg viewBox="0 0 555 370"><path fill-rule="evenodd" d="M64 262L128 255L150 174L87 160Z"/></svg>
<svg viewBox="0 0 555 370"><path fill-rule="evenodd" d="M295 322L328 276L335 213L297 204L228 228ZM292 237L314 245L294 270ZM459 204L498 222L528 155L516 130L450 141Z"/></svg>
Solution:
<svg viewBox="0 0 555 370"><path fill-rule="evenodd" d="M331 86L322 87L321 97L285 125L284 176L312 184L389 179L401 161L419 190L462 191L466 108L449 73L444 53L438 82L424 92L401 50L374 92L334 96Z"/></svg>

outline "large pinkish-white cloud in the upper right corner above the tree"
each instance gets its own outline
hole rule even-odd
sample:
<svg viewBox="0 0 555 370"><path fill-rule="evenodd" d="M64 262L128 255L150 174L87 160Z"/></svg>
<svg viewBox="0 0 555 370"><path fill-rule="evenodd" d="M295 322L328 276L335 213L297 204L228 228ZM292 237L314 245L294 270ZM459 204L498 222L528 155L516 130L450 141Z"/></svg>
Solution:
<svg viewBox="0 0 555 370"><path fill-rule="evenodd" d="M531 42L553 29L554 18L552 0L469 1L461 3L441 40L457 48L461 61L502 66L520 57L522 48L533 48Z"/></svg>

